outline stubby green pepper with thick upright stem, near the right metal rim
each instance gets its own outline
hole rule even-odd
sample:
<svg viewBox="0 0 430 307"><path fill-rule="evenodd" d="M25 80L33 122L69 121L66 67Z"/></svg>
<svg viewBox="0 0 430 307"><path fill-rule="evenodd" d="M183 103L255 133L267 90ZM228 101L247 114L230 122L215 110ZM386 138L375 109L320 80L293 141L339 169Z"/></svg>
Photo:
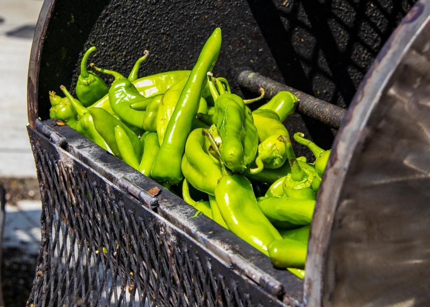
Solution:
<svg viewBox="0 0 430 307"><path fill-rule="evenodd" d="M314 200L315 192L321 183L321 178L315 169L300 166L294 155L290 139L285 138L285 144L291 168L291 173L287 174L283 183L285 195L295 199Z"/></svg>

